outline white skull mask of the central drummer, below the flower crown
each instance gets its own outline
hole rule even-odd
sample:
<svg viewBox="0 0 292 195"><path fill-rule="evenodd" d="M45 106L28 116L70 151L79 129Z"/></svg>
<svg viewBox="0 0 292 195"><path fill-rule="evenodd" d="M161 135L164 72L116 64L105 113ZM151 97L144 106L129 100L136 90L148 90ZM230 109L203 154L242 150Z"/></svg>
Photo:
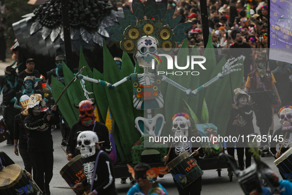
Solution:
<svg viewBox="0 0 292 195"><path fill-rule="evenodd" d="M190 127L190 120L186 119L183 116L177 116L172 121L172 131L175 133L175 137L188 137Z"/></svg>

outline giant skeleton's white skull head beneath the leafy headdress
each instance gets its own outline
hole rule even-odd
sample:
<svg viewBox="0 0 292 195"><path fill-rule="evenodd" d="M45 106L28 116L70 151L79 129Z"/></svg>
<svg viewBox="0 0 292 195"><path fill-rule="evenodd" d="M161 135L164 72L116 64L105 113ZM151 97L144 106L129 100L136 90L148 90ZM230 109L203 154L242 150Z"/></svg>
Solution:
<svg viewBox="0 0 292 195"><path fill-rule="evenodd" d="M135 57L141 68L152 67L153 56L158 54L157 48L158 41L154 37L144 36L137 41Z"/></svg>

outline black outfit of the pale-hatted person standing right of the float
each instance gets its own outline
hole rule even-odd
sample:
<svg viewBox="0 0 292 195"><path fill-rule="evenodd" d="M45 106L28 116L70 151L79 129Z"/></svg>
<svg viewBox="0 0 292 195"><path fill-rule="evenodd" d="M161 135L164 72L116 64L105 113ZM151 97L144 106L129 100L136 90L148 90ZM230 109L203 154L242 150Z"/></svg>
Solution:
<svg viewBox="0 0 292 195"><path fill-rule="evenodd" d="M238 107L238 109L231 109L230 118L227 124L226 137L236 137L240 135L240 140L236 143L237 157L239 167L244 167L244 149L246 148L246 168L251 164L250 147L248 146L247 136L254 133L252 124L252 106L247 104L244 107ZM233 125L233 121L237 120L237 125ZM241 136L244 136L244 140ZM244 141L244 142L243 142ZM234 142L231 140L226 143L227 152L229 155L234 156Z"/></svg>

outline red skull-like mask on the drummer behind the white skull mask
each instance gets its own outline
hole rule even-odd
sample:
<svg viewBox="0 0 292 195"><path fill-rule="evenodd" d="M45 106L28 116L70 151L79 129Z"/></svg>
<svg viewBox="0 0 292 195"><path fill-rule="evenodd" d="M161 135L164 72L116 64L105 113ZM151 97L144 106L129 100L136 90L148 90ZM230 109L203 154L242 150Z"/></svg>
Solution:
<svg viewBox="0 0 292 195"><path fill-rule="evenodd" d="M84 126L93 125L95 121L94 103L90 100L83 100L79 103L79 118Z"/></svg>

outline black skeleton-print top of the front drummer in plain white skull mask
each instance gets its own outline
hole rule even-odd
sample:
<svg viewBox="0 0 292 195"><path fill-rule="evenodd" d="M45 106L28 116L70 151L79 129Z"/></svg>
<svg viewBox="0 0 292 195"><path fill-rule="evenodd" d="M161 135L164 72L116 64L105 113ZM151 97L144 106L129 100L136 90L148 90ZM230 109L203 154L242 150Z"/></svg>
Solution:
<svg viewBox="0 0 292 195"><path fill-rule="evenodd" d="M86 166L87 163L92 163L92 162L95 165L96 156L99 151L101 150L95 148L94 155L89 156L87 158L82 158L83 167ZM93 173L90 173L90 174L92 175ZM93 182L92 191L95 190L98 193L98 195L118 195L116 191L116 187L115 187L115 178L114 178L114 169L113 169L112 159L104 151L101 151L98 157L95 174L97 176L97 180L96 181L93 180L94 182ZM88 181L86 177L83 179L82 183L84 187L88 186ZM91 180L90 180L90 183L91 183ZM90 189L90 185L89 185L89 189Z"/></svg>

